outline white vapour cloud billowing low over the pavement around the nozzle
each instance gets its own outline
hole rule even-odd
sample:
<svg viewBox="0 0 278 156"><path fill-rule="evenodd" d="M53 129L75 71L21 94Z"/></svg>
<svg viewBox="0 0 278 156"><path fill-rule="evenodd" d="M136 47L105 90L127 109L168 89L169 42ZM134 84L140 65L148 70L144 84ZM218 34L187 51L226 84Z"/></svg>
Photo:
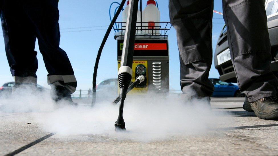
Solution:
<svg viewBox="0 0 278 156"><path fill-rule="evenodd" d="M112 105L110 101L96 103L94 107L79 103L81 105L77 108L56 110L53 110L49 93L18 95L3 101L6 107L0 111L44 111L35 113L34 118L44 130L61 135L97 134L151 141L207 132L209 127L217 124L206 99L187 100L187 97L175 94L128 95L123 113L127 130L120 133L114 130L119 105ZM45 112L49 110L52 111Z"/></svg>

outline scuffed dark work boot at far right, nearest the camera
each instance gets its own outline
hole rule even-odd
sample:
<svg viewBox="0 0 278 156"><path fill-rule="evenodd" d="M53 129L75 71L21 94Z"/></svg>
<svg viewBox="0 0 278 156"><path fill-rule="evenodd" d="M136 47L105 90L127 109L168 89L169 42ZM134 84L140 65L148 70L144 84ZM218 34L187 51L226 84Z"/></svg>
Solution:
<svg viewBox="0 0 278 156"><path fill-rule="evenodd" d="M278 103L276 97L265 97L250 103L256 116L261 119L278 120Z"/></svg>

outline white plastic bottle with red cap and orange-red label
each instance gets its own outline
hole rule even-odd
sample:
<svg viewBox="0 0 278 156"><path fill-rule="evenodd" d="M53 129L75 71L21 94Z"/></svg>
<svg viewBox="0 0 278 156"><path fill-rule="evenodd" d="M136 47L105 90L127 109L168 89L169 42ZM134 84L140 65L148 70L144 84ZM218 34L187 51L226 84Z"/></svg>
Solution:
<svg viewBox="0 0 278 156"><path fill-rule="evenodd" d="M151 35L158 35L160 34L160 30L152 30L154 28L159 29L159 23L154 22L160 22L160 12L158 8L156 7L156 1L154 0L148 0L147 6L142 12L142 22L148 22L144 23L144 27L149 30L145 30L146 33Z"/></svg>

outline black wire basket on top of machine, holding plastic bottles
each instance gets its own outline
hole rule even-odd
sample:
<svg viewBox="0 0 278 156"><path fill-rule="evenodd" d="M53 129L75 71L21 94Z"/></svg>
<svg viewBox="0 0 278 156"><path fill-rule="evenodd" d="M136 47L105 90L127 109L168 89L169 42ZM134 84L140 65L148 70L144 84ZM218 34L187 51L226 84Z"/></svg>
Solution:
<svg viewBox="0 0 278 156"><path fill-rule="evenodd" d="M124 39L126 22L115 22L115 39ZM170 22L137 22L135 39L167 39Z"/></svg>

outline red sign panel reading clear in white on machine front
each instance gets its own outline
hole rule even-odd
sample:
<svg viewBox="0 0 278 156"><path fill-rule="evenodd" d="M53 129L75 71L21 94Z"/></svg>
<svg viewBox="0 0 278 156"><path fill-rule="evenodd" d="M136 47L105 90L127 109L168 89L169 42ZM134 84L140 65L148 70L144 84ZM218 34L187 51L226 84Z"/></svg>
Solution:
<svg viewBox="0 0 278 156"><path fill-rule="evenodd" d="M134 50L167 50L166 43L135 43Z"/></svg>

